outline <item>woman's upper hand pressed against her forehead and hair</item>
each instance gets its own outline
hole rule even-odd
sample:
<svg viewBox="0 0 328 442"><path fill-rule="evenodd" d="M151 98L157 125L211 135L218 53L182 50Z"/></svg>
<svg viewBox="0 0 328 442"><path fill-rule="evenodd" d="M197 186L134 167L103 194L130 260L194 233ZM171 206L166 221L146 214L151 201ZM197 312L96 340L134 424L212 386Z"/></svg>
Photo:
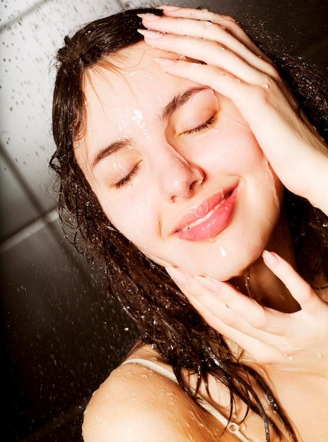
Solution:
<svg viewBox="0 0 328 442"><path fill-rule="evenodd" d="M163 11L163 17L142 16L145 42L189 60L160 57L155 61L163 71L232 100L283 184L328 214L327 145L271 60L230 17L172 6Z"/></svg>

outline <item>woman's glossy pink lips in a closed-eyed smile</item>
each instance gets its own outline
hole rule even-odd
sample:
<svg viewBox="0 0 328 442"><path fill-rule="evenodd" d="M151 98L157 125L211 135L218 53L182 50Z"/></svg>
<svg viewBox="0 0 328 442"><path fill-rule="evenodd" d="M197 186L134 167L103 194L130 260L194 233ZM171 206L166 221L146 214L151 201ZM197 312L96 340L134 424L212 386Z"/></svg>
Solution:
<svg viewBox="0 0 328 442"><path fill-rule="evenodd" d="M237 187L215 193L206 201L192 208L185 217L182 217L179 225L175 227L175 236L188 241L204 241L216 237L229 224L236 199ZM216 205L218 205L218 208L213 210ZM192 223L205 217L211 210L213 210L213 213L209 218L189 227ZM186 227L189 228L186 230Z"/></svg>

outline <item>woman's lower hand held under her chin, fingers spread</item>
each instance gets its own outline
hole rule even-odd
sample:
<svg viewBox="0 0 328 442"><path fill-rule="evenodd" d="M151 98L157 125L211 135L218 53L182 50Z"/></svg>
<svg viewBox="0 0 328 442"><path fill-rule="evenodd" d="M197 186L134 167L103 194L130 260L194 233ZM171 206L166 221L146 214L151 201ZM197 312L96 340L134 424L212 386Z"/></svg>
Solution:
<svg viewBox="0 0 328 442"><path fill-rule="evenodd" d="M262 256L298 301L299 311L281 313L259 305L228 282L167 270L205 321L255 361L328 377L328 304L276 253L264 251Z"/></svg>

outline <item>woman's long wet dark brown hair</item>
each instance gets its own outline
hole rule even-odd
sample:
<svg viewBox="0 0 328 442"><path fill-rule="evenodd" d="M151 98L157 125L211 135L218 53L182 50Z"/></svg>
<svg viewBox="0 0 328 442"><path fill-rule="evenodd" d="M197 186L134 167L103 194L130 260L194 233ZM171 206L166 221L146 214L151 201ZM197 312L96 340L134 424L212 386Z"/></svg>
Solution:
<svg viewBox="0 0 328 442"><path fill-rule="evenodd" d="M262 417L266 441L270 440L270 428L279 434L285 429L295 441L288 418L262 377L233 357L223 337L202 320L165 270L148 260L110 225L74 157L73 143L81 135L86 119L83 75L108 54L140 42L142 37L136 30L142 25L136 14L146 12L162 14L158 9L138 8L95 20L73 37L65 37L65 46L58 52L52 114L57 150L50 166L59 177L61 223L78 251L91 261L102 262L109 294L117 298L134 319L141 340L156 348L165 362L172 365L180 386L192 398L195 399L196 393L189 389L181 374L185 367L198 374L199 383L201 379L206 382L211 374L229 388L230 417L234 398L241 398L247 410ZM264 52L280 66L305 113L327 138L324 78L314 75L309 66L299 60L293 64L285 55L269 54L265 49ZM317 92L320 86L321 94ZM300 273L309 281L318 274L328 277L324 273L328 268L327 217L288 191L283 205L291 225ZM254 383L264 392L271 412L264 410L252 387Z"/></svg>

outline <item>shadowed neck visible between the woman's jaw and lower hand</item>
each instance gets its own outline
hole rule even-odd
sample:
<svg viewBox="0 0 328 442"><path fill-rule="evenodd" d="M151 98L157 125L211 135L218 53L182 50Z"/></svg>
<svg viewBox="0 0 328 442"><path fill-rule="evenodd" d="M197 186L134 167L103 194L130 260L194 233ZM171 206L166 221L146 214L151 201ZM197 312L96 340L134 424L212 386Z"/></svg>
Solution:
<svg viewBox="0 0 328 442"><path fill-rule="evenodd" d="M281 213L266 249L275 251L295 268L292 242L286 216ZM230 282L240 292L256 299L263 306L286 313L299 309L298 302L293 299L283 282L266 267L261 256L250 265L244 275L235 277Z"/></svg>

